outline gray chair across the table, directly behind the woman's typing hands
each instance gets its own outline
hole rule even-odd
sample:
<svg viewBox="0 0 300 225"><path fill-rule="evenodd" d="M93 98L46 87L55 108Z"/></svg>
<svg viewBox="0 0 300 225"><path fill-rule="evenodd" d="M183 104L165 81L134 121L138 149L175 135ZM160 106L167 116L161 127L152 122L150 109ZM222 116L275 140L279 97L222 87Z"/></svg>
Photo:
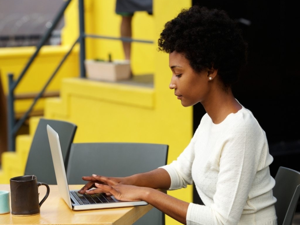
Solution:
<svg viewBox="0 0 300 225"><path fill-rule="evenodd" d="M68 184L85 184L82 176L123 177L167 163L168 145L148 143L73 143L66 170ZM134 225L163 225L165 214L153 208Z"/></svg>

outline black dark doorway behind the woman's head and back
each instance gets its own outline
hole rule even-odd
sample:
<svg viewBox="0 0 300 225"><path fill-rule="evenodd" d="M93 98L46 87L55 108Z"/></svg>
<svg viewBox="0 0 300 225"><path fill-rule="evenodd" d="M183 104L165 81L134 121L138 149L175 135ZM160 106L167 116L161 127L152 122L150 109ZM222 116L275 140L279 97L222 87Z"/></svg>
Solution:
<svg viewBox="0 0 300 225"><path fill-rule="evenodd" d="M234 95L267 134L274 157L271 175L276 175L279 166L300 171L300 17L296 2L193 0L192 4L224 9L239 21L249 54ZM205 111L201 104L193 110L195 132ZM201 203L197 194L194 202Z"/></svg>

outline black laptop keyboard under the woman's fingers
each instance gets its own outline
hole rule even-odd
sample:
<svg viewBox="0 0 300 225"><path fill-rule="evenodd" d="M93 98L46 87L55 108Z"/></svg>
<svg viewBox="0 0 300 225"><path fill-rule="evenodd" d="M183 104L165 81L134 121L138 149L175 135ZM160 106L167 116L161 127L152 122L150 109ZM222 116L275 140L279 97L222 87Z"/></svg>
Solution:
<svg viewBox="0 0 300 225"><path fill-rule="evenodd" d="M75 197L80 205L99 204L115 202L111 196L106 196L102 193L97 194L79 194L77 191L71 191L71 194Z"/></svg>

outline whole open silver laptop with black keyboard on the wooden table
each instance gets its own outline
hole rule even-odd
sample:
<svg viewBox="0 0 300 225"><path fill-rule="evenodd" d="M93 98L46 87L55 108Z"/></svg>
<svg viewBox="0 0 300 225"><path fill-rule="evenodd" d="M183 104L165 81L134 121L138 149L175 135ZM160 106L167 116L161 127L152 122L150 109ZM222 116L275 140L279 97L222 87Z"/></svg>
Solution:
<svg viewBox="0 0 300 225"><path fill-rule="evenodd" d="M56 181L58 185L58 191L66 204L70 207L70 209L91 210L148 205L148 203L144 201L119 201L114 196L106 196L105 193L82 195L78 193L78 190L70 190L66 177L65 166L63 163L62 150L58 133L49 125L47 125L47 133L53 159Z"/></svg>

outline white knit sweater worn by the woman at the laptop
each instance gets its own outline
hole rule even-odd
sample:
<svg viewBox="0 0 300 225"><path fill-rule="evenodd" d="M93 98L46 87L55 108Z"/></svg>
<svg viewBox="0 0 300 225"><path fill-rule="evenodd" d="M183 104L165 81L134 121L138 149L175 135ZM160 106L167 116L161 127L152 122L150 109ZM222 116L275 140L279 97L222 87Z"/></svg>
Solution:
<svg viewBox="0 0 300 225"><path fill-rule="evenodd" d="M171 177L170 190L194 182L204 202L190 203L188 225L276 225L272 161L264 130L243 107L220 124L205 114L190 144L162 168Z"/></svg>

